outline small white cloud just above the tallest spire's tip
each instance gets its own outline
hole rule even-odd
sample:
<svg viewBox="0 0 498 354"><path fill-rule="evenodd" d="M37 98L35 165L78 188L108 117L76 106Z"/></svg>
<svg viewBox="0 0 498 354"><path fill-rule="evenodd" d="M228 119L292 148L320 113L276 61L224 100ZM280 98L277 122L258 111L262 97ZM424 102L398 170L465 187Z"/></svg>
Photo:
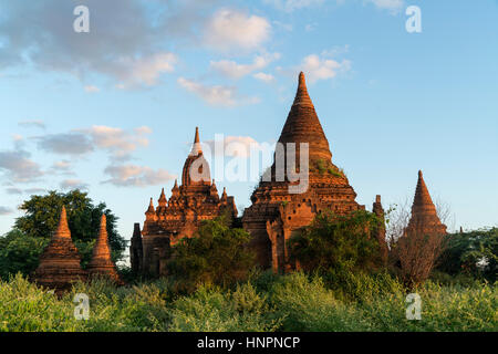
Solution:
<svg viewBox="0 0 498 354"><path fill-rule="evenodd" d="M350 71L351 61L343 60L338 62L333 59L324 59L317 54L311 54L303 59L298 69L305 73L307 81L313 83L319 80L333 79L338 73Z"/></svg>

